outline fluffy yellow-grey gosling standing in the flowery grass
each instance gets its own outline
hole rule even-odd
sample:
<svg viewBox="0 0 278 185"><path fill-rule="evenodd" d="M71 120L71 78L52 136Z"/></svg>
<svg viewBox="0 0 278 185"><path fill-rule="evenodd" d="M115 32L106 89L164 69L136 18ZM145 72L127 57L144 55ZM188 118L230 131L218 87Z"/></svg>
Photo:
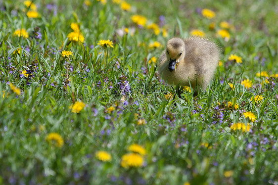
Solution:
<svg viewBox="0 0 278 185"><path fill-rule="evenodd" d="M212 79L219 55L218 46L205 38L172 38L159 58L158 72L168 84L191 85L196 94Z"/></svg>

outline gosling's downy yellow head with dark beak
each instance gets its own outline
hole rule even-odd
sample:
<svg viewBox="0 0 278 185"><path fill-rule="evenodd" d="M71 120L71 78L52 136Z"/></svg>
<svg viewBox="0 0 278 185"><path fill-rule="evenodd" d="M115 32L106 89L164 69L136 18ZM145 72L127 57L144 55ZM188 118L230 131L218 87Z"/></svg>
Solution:
<svg viewBox="0 0 278 185"><path fill-rule="evenodd" d="M185 42L181 38L172 38L167 42L166 55L169 71L174 71L177 63L185 57Z"/></svg>

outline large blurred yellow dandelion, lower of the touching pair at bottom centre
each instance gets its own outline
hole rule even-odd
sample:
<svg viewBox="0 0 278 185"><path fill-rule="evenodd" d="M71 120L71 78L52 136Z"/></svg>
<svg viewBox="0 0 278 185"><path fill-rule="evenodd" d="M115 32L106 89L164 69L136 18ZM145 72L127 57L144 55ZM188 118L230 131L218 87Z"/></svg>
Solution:
<svg viewBox="0 0 278 185"><path fill-rule="evenodd" d="M122 156L121 166L128 167L141 167L143 166L144 159L138 153L128 153Z"/></svg>

